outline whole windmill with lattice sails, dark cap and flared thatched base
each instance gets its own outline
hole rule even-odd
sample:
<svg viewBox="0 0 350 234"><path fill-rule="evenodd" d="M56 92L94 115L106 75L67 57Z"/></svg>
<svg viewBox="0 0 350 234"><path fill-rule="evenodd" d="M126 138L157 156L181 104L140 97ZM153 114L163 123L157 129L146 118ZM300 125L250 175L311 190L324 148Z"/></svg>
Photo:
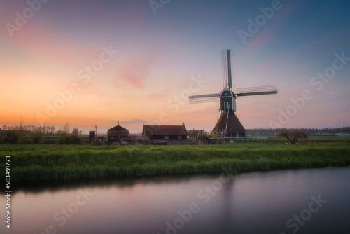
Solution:
<svg viewBox="0 0 350 234"><path fill-rule="evenodd" d="M225 137L245 137L246 130L235 115L236 99L239 96L269 95L277 93L276 85L256 86L250 88L232 88L231 57L230 50L223 50L223 90L221 93L210 95L194 95L188 97L190 103L218 102L220 100L221 116L213 131L220 132Z"/></svg>

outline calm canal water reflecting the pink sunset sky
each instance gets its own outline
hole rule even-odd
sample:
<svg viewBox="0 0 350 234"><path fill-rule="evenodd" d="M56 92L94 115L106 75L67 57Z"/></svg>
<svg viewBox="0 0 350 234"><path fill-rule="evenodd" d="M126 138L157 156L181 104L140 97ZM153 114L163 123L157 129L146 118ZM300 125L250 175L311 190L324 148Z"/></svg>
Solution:
<svg viewBox="0 0 350 234"><path fill-rule="evenodd" d="M349 233L350 168L27 185L11 200L1 233Z"/></svg>

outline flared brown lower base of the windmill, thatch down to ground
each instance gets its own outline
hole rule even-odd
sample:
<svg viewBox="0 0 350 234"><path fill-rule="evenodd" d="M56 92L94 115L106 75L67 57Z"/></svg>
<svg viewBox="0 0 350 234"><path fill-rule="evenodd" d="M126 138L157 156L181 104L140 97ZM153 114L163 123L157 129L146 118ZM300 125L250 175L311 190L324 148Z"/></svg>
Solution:
<svg viewBox="0 0 350 234"><path fill-rule="evenodd" d="M246 137L246 130L230 109L223 110L213 132L218 132L219 137Z"/></svg>

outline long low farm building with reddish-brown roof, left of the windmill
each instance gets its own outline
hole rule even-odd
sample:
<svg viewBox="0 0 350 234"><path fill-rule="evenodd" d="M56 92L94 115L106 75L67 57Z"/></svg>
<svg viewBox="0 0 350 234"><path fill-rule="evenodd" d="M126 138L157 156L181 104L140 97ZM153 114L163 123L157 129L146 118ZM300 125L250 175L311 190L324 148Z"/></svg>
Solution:
<svg viewBox="0 0 350 234"><path fill-rule="evenodd" d="M151 140L185 140L187 130L185 125L144 125L142 135Z"/></svg>

